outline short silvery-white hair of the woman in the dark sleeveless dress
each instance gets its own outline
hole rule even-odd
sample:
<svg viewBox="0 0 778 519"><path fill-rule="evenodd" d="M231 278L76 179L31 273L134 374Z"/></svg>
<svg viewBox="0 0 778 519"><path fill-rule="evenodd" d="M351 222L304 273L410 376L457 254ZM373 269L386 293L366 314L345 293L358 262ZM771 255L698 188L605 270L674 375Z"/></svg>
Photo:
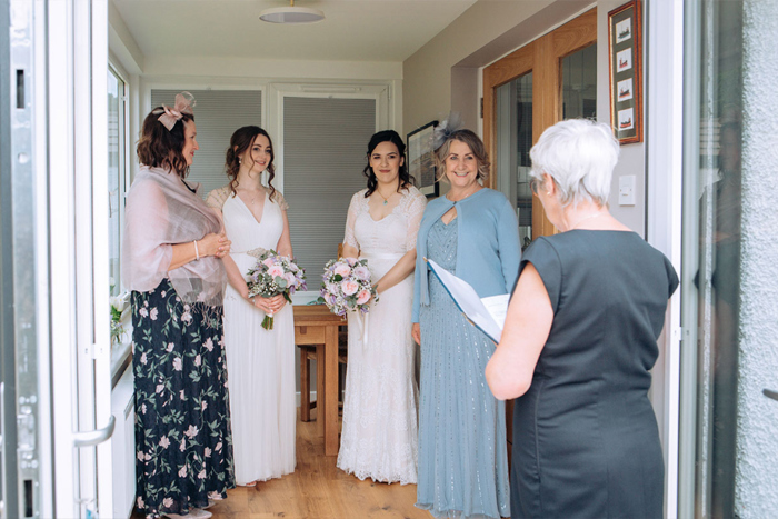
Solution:
<svg viewBox="0 0 778 519"><path fill-rule="evenodd" d="M529 150L530 176L553 179L562 207L582 201L608 204L610 179L619 160L619 143L608 124L569 119L546 129Z"/></svg>

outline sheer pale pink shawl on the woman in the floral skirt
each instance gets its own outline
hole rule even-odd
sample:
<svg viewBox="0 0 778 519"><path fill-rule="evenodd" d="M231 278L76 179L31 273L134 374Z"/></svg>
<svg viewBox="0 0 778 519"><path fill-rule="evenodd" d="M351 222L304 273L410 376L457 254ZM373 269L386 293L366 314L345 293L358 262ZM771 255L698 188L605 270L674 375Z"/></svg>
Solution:
<svg viewBox="0 0 778 519"><path fill-rule="evenodd" d="M199 183L192 187L199 189ZM121 276L129 290L148 292L166 277L188 303L220 306L227 275L221 260L200 258L168 271L172 246L221 231L219 216L167 169L141 166L127 196Z"/></svg>

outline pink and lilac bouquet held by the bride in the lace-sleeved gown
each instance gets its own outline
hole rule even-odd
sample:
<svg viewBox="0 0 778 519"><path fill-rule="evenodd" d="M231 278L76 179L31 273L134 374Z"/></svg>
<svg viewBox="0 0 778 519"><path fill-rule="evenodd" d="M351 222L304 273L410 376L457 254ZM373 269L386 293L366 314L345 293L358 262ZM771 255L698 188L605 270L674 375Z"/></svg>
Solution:
<svg viewBox="0 0 778 519"><path fill-rule="evenodd" d="M357 310L367 313L370 299L378 302L376 288L370 283L367 259L329 260L321 279L318 302L327 305L332 313L346 316L347 311Z"/></svg>

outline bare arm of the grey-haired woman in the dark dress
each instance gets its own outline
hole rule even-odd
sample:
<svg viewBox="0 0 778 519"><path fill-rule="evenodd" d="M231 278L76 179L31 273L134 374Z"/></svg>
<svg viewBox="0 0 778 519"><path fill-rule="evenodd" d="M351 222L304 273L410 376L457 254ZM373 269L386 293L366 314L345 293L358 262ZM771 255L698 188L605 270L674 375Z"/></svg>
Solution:
<svg viewBox="0 0 778 519"><path fill-rule="evenodd" d="M491 392L500 400L527 392L553 321L551 300L532 263L525 267L508 307L500 343L486 368Z"/></svg>

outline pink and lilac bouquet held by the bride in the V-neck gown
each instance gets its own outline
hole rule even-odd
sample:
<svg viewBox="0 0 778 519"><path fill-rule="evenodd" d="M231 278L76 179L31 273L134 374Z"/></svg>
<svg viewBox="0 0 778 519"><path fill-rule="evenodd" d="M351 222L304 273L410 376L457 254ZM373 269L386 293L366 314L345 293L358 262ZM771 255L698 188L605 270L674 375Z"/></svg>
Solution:
<svg viewBox="0 0 778 519"><path fill-rule="evenodd" d="M306 289L306 271L297 266L295 258L279 256L275 250L267 250L257 257L257 265L249 269L249 297L270 298L283 296L291 302L297 290ZM273 316L268 313L262 319L262 328L272 330Z"/></svg>

